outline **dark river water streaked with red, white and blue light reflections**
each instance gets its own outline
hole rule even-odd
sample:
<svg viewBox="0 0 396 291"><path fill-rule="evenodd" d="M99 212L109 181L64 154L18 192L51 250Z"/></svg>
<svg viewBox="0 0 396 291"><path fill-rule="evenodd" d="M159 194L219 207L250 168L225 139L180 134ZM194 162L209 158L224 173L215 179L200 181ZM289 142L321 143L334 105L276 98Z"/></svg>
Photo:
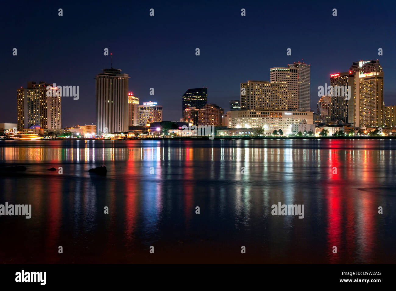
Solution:
<svg viewBox="0 0 396 291"><path fill-rule="evenodd" d="M1 164L28 168L0 173L0 203L32 204L33 212L31 219L0 217L1 233L8 234L0 243L1 262L396 259L393 140L0 146ZM88 172L101 165L106 177ZM63 167L63 175L50 167ZM305 218L272 216L271 205L278 202L304 204ZM59 245L67 256L58 255ZM242 245L247 253L241 257Z"/></svg>

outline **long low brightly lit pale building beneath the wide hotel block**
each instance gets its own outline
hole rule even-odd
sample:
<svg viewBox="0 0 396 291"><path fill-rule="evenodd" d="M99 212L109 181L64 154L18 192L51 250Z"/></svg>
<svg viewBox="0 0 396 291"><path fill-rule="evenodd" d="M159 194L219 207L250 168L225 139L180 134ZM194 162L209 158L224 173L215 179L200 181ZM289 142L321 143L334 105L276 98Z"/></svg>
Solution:
<svg viewBox="0 0 396 291"><path fill-rule="evenodd" d="M289 135L292 133L293 124L313 125L313 112L283 110L228 111L223 117L223 122L227 129L249 129L248 131L253 131L253 129L263 126L263 135L269 135L275 129L282 129L284 135Z"/></svg>

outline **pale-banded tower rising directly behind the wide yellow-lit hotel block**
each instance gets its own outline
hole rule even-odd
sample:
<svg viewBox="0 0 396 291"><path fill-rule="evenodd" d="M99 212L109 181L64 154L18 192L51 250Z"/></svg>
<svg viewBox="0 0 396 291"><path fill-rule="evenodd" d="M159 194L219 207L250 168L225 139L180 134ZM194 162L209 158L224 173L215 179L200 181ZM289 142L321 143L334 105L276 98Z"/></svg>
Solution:
<svg viewBox="0 0 396 291"><path fill-rule="evenodd" d="M283 82L287 84L287 110L298 109L298 69L275 67L270 68L270 82Z"/></svg>

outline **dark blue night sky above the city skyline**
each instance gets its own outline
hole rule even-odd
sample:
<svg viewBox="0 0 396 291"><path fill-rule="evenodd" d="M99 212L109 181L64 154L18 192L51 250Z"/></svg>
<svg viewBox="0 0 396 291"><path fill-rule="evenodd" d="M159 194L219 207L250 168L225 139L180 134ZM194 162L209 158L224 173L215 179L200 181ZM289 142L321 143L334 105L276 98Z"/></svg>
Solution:
<svg viewBox="0 0 396 291"><path fill-rule="evenodd" d="M16 90L31 80L80 86L79 100L62 99L62 126L95 123L94 78L110 67L104 48L113 53L113 67L131 77L129 91L141 103L162 105L164 120L179 120L188 88L208 87L208 103L227 111L229 100L239 99L240 82L269 81L270 67L302 59L311 65L313 110L317 87L360 59L380 60L385 105L395 105L396 4L346 2L7 2L0 20L0 122L16 123Z"/></svg>

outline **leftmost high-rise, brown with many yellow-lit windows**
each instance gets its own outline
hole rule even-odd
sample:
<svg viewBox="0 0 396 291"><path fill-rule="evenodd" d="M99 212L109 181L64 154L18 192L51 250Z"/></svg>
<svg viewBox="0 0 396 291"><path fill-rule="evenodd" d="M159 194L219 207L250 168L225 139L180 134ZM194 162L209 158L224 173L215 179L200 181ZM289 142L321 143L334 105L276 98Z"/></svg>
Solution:
<svg viewBox="0 0 396 291"><path fill-rule="evenodd" d="M31 126L61 129L61 94L52 84L28 82L27 88L17 89L18 130ZM49 87L49 89L48 89ZM53 90L47 94L48 90Z"/></svg>

